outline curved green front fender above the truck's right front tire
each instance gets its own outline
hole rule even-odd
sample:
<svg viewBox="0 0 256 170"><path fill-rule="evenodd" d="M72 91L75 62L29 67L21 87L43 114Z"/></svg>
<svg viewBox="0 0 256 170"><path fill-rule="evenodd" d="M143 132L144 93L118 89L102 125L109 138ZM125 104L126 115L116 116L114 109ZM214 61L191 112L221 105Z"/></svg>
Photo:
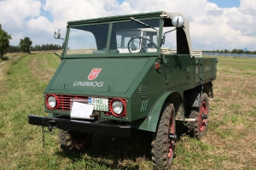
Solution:
<svg viewBox="0 0 256 170"><path fill-rule="evenodd" d="M138 129L146 130L150 132L155 132L157 123L160 117L161 109L168 98L174 91L165 92L160 96L159 99L156 100L154 105L151 107L147 118L143 121L143 123L138 127Z"/></svg>

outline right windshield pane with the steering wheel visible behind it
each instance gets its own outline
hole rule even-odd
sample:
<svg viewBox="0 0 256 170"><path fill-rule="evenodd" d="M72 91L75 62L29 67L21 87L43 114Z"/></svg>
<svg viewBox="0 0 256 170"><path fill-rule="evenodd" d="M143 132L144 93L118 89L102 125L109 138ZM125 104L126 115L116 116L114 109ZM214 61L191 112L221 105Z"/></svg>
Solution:
<svg viewBox="0 0 256 170"><path fill-rule="evenodd" d="M160 20L141 20L148 26L159 30ZM148 28L136 21L113 24L110 50L117 49L123 53L157 52L158 31Z"/></svg>

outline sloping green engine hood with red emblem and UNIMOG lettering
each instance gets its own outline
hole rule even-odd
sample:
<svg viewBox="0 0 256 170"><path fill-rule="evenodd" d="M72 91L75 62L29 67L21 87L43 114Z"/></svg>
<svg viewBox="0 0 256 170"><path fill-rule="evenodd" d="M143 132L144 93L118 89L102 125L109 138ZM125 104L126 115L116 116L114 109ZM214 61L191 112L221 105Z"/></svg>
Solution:
<svg viewBox="0 0 256 170"><path fill-rule="evenodd" d="M148 58L67 59L49 84L49 90L125 94Z"/></svg>

